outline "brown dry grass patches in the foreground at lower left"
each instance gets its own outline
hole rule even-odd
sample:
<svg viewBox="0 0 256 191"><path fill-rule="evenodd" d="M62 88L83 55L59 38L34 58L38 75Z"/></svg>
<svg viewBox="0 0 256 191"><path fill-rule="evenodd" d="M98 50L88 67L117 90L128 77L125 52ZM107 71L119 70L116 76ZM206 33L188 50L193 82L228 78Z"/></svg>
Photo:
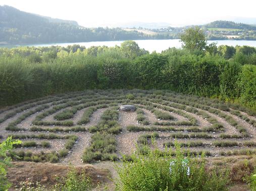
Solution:
<svg viewBox="0 0 256 191"><path fill-rule="evenodd" d="M20 186L20 182L26 181L28 178L31 182L40 182L41 185L50 187L66 177L69 166L58 165L52 163L35 163L35 162L13 162L13 166L8 168L7 177L12 182L12 189ZM53 170L54 169L54 170ZM109 171L96 169L91 165L76 166L77 173L85 172L92 180L92 184L96 186L99 182L109 181Z"/></svg>

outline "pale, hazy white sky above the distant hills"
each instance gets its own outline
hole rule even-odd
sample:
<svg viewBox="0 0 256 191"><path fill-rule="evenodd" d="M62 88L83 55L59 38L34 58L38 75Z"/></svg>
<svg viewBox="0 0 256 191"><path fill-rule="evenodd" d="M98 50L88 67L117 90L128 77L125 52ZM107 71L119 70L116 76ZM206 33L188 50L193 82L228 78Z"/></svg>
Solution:
<svg viewBox="0 0 256 191"><path fill-rule="evenodd" d="M256 18L256 0L0 0L21 11L74 20L85 27L130 22L204 24L234 17Z"/></svg>

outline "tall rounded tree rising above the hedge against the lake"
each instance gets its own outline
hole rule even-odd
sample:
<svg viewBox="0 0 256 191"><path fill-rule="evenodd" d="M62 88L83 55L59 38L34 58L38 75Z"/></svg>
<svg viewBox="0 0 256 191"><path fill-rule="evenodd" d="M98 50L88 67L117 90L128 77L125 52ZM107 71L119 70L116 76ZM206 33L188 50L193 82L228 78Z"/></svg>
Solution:
<svg viewBox="0 0 256 191"><path fill-rule="evenodd" d="M206 35L199 27L192 27L185 30L185 33L181 35L180 41L182 42L182 48L190 51L206 50L207 41Z"/></svg>

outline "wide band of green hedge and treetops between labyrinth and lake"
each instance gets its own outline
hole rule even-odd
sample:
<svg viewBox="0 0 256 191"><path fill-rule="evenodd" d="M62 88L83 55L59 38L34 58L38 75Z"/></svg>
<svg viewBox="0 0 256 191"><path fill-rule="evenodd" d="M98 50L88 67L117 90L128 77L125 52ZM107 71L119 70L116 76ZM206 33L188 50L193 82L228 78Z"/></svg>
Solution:
<svg viewBox="0 0 256 191"><path fill-rule="evenodd" d="M162 53L149 53L134 41L120 47L1 48L0 106L61 92L139 88L218 98L256 110L255 48L211 46Z"/></svg>

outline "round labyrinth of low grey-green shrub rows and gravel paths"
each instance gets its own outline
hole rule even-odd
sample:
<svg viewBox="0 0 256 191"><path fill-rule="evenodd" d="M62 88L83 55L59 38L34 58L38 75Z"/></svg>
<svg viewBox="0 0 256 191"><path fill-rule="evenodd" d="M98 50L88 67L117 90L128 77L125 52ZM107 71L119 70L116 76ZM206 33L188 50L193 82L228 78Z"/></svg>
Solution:
<svg viewBox="0 0 256 191"><path fill-rule="evenodd" d="M120 110L133 105L134 112ZM80 164L119 161L143 146L207 157L256 152L256 117L215 99L164 90L87 90L0 111L0 141L22 140L14 160ZM170 150L171 149L171 150Z"/></svg>

